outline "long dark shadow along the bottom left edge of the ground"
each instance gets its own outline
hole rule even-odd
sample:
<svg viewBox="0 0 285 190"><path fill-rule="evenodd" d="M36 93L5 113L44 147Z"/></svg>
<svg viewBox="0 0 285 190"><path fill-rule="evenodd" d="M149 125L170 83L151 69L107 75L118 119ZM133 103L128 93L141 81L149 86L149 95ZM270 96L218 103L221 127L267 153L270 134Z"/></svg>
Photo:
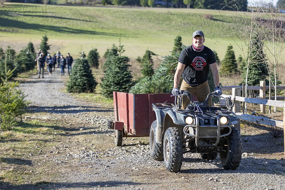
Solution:
<svg viewBox="0 0 285 190"><path fill-rule="evenodd" d="M57 183L49 183L49 182L40 182L34 184L21 184L21 185L11 185L8 183L4 183L0 181L0 189L6 190L51 190L51 189L68 189L68 188L80 188L80 189L94 189L98 185L101 188L107 187L117 187L118 189L123 189L123 185L143 185L144 183L134 183L131 181L126 182L123 181L92 181L92 182L57 182ZM157 183L159 184L159 183ZM107 188L108 189L108 188ZM133 188L135 189L135 187Z"/></svg>

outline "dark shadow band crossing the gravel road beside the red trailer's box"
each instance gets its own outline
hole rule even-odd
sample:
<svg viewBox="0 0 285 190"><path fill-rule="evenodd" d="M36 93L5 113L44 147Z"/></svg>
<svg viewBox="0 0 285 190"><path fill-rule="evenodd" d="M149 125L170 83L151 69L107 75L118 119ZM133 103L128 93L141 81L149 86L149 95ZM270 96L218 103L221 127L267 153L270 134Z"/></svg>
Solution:
<svg viewBox="0 0 285 190"><path fill-rule="evenodd" d="M48 107L48 106L29 106L29 113L84 113L84 112L113 112L111 109L103 107L91 107L91 106L59 106L59 107Z"/></svg>

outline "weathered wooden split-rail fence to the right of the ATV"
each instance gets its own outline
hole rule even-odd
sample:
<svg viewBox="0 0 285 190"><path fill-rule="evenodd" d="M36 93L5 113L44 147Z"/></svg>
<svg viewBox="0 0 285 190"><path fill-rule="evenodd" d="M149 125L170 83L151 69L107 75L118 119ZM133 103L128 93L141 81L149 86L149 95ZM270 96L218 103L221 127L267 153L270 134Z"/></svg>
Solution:
<svg viewBox="0 0 285 190"><path fill-rule="evenodd" d="M265 84L265 82L264 82ZM280 128L283 128L284 130L284 155L285 155L285 127L284 127L284 122L285 122L285 101L278 101L278 100L269 100L265 98L265 90L269 89L269 87L266 87L263 85L262 87L256 87L256 86L248 86L248 90L260 90L260 92L264 92L264 99L256 99L256 98L245 98L241 96L241 88L242 86L231 86L231 87L223 87L222 90L230 90L232 89L232 95L225 95L223 94L223 97L229 97L231 96L231 99L235 98L235 105L233 107L233 112L237 115L237 118L239 119L239 122L235 124L235 127L240 131L241 129L241 122L240 120L247 120L255 123L260 123L260 124L265 124L265 125L271 125L271 126L277 126ZM280 86L279 86L280 87ZM274 88L273 88L274 89ZM277 88L278 89L278 88ZM285 89L285 86L280 87L279 89ZM283 97L283 99L285 96ZM266 117L257 117L253 115L248 115L245 114L244 112L241 113L241 102L242 103L255 103L261 105L260 107L263 110L264 106L264 112L265 112L265 105L268 106L274 106L274 107L283 107L283 121L280 120L275 120L275 119L269 119ZM263 112L263 113L264 113Z"/></svg>

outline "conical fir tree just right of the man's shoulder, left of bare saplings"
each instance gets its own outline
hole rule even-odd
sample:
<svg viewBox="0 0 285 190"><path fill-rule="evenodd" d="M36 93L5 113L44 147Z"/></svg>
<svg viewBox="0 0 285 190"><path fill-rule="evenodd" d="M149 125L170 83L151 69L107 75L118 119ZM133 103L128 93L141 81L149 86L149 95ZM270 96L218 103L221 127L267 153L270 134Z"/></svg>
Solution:
<svg viewBox="0 0 285 190"><path fill-rule="evenodd" d="M233 51L233 46L229 45L225 57L221 64L221 74L231 76L238 73L237 70L237 60L235 59L235 52Z"/></svg>

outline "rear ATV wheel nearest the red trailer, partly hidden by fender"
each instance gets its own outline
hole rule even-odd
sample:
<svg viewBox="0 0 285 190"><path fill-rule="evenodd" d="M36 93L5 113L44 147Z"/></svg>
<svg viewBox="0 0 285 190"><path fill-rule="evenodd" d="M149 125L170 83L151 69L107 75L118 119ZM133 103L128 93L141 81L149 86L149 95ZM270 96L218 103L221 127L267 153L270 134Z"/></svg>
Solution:
<svg viewBox="0 0 285 190"><path fill-rule="evenodd" d="M149 150L150 156L154 160L163 160L163 146L155 142L155 131L156 131L157 121L152 122L149 133Z"/></svg>

